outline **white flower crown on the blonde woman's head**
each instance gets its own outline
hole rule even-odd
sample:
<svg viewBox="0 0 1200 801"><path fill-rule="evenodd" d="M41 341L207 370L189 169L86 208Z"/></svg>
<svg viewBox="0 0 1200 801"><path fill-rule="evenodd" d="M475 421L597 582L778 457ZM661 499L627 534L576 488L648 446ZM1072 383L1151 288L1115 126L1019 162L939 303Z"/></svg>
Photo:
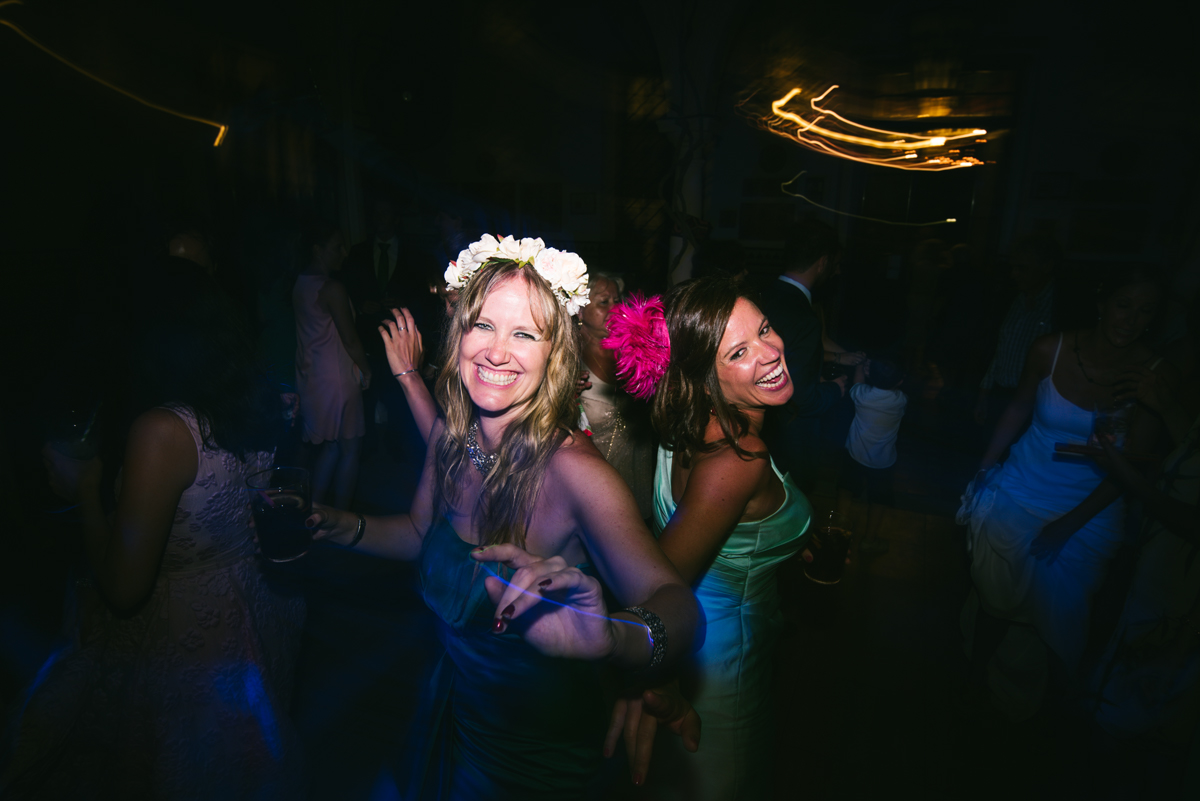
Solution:
<svg viewBox="0 0 1200 801"><path fill-rule="evenodd" d="M533 265L538 275L550 283L568 314L575 315L592 302L588 297L588 265L577 253L546 247L540 237L518 242L505 236L497 241L491 234L484 234L481 240L473 242L458 254L457 261L451 261L446 267L446 289L462 289L475 271L492 259Z"/></svg>

